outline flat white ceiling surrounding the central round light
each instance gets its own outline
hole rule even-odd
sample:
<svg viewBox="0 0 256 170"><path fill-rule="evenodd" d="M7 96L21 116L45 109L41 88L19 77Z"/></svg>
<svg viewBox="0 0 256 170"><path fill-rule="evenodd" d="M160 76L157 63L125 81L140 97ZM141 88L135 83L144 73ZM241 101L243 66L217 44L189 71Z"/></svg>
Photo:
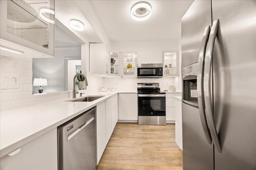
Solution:
<svg viewBox="0 0 256 170"><path fill-rule="evenodd" d="M139 0L89 0L110 41L166 41L180 38L180 20L193 0L143 0L152 7L146 21L135 21L130 10Z"/></svg>

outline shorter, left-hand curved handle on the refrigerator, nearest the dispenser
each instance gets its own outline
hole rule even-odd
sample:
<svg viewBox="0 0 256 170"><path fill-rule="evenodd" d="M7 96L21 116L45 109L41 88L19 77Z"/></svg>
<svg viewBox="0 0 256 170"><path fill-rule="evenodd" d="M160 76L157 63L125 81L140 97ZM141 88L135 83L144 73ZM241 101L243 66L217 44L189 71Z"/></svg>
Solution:
<svg viewBox="0 0 256 170"><path fill-rule="evenodd" d="M204 131L206 141L211 145L212 138L206 121L206 115L204 111L204 89L203 89L203 78L204 77L204 55L206 50L207 40L210 34L210 25L204 29L204 35L202 38L202 44L198 57L198 72L197 72L197 98L198 98L198 109L200 114L200 120Z"/></svg>

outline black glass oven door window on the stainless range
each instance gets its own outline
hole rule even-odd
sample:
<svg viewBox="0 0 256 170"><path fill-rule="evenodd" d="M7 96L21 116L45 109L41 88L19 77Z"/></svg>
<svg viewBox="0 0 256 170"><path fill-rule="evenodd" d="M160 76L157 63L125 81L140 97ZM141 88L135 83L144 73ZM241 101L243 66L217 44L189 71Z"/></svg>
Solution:
<svg viewBox="0 0 256 170"><path fill-rule="evenodd" d="M138 115L165 115L165 97L138 97Z"/></svg>

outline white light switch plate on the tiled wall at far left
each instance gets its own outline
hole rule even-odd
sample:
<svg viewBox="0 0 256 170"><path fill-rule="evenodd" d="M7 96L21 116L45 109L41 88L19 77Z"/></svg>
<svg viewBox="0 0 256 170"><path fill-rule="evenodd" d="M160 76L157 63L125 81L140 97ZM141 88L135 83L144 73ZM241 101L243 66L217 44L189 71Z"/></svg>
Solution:
<svg viewBox="0 0 256 170"><path fill-rule="evenodd" d="M20 88L20 78L16 74L1 74L1 89Z"/></svg>

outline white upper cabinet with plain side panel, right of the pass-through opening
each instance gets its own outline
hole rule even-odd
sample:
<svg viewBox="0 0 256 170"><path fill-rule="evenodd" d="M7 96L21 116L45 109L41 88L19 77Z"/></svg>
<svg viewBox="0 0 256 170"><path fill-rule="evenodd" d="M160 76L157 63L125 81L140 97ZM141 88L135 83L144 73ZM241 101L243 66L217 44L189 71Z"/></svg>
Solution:
<svg viewBox="0 0 256 170"><path fill-rule="evenodd" d="M90 43L90 66L92 74L110 74L109 49L104 43Z"/></svg>

